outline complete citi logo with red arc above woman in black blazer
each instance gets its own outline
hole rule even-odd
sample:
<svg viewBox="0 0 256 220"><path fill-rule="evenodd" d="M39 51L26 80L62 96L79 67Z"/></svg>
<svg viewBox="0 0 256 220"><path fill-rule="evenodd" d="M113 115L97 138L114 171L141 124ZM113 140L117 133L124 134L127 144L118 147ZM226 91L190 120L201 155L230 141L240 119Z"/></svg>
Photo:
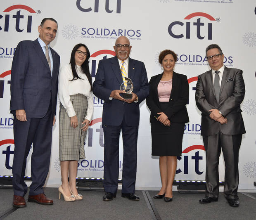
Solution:
<svg viewBox="0 0 256 220"><path fill-rule="evenodd" d="M173 38L186 38L190 39L191 35L197 33L197 38L199 40L204 39L207 37L208 40L212 40L212 23L209 22L208 24L205 24L201 22L201 18L204 17L208 19L209 21L216 21L211 15L206 14L204 12L195 12L192 14L187 15L184 20L190 20L194 17L199 17L195 22L190 22L187 21L185 22L185 28L182 28L180 31L180 26L183 26L184 23L181 21L173 21L169 26L168 26L168 33L171 35ZM191 20L192 21L192 20ZM196 26L196 28L193 28L193 26ZM202 36L202 34L205 34Z"/></svg>

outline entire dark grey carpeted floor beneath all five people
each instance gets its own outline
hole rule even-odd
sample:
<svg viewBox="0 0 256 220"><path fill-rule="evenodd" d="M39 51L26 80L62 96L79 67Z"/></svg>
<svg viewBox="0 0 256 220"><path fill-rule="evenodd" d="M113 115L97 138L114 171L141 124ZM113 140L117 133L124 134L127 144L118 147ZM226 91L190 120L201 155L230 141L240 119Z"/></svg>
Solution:
<svg viewBox="0 0 256 220"><path fill-rule="evenodd" d="M79 193L83 195L82 201L66 202L63 197L58 199L57 188L45 188L45 194L54 200L52 206L27 202L26 208L12 209L12 189L0 189L2 197L0 219L256 219L256 193L248 193L249 196L246 193L239 193L240 206L238 208L230 207L223 193L220 193L218 202L210 204L199 203L199 199L204 197L204 194L180 194L177 191L173 192L173 201L169 203L164 202L164 199L152 199L157 194L156 191L136 191L136 195L140 196L140 201L122 198L121 191L118 191L116 198L109 202L102 201L104 195L102 191L79 191ZM149 195L149 199L147 195Z"/></svg>

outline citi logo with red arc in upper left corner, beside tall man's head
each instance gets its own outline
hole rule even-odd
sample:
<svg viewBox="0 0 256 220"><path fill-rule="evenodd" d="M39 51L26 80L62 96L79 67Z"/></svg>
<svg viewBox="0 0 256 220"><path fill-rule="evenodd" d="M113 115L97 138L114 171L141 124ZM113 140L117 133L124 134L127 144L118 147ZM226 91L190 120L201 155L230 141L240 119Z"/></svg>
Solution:
<svg viewBox="0 0 256 220"><path fill-rule="evenodd" d="M10 7L8 7L7 9L5 9L3 12L12 12L13 10L17 10L16 14L5 14L5 16L3 16L2 14L0 14L0 19L2 19L2 24L4 24L4 26L0 26L0 31L4 28L5 32L9 31L9 24L13 23L10 22L10 19L15 19L15 30L17 32L22 32L24 31L24 28L26 28L26 32L27 33L31 33L31 26L32 26L32 15L28 15L27 17L23 14L21 14L21 9L26 10L28 12L30 12L31 14L36 13L34 9L32 9L31 7L28 7L26 5L12 5ZM40 11L38 11L39 13ZM26 24L25 24L26 22ZM0 24L1 25L1 24Z"/></svg>

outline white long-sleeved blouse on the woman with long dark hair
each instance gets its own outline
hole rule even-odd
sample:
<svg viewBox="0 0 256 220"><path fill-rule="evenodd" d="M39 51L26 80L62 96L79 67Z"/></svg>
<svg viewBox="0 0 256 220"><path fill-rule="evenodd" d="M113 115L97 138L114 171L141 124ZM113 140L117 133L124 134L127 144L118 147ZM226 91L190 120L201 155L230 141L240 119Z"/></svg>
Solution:
<svg viewBox="0 0 256 220"><path fill-rule="evenodd" d="M76 72L81 79L73 79L71 65L63 66L59 71L59 100L66 109L69 117L75 116L73 105L70 101L70 95L81 94L87 97L88 109L85 119L91 121L93 114L93 100L91 86L85 73L82 72L81 66L76 65ZM72 81L69 81L72 80Z"/></svg>

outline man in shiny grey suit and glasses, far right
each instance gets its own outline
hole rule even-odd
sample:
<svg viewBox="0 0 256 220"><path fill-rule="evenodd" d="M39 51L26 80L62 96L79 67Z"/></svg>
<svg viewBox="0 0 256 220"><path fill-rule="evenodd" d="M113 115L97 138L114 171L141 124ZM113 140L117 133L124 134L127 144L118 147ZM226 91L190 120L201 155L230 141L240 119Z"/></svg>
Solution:
<svg viewBox="0 0 256 220"><path fill-rule="evenodd" d="M230 206L237 207L238 153L242 134L245 133L240 109L245 93L243 71L224 66L224 54L216 44L206 48L206 58L211 70L198 76L196 89L206 151L206 193L199 202L218 201L218 164L222 149L225 161L224 196Z"/></svg>

